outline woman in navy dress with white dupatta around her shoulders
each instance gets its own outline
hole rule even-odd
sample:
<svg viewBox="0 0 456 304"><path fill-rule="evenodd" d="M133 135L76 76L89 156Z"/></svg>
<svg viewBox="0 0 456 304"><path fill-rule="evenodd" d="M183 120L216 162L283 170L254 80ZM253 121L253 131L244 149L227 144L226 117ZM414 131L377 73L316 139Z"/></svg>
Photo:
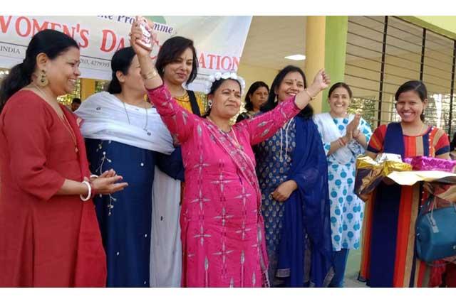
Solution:
<svg viewBox="0 0 456 304"><path fill-rule="evenodd" d="M174 147L160 116L145 102L133 49L118 50L111 65L108 92L89 97L76 114L83 119L91 172L113 167L130 184L128 191L94 199L108 260L107 286L149 287L155 164L158 152L170 154Z"/></svg>

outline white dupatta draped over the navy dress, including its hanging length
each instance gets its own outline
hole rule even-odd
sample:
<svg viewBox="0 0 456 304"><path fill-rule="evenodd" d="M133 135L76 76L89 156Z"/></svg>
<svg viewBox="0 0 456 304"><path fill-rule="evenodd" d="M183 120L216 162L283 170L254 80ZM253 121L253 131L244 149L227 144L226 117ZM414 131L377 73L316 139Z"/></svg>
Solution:
<svg viewBox="0 0 456 304"><path fill-rule="evenodd" d="M117 141L168 155L175 149L170 131L155 108L146 111L101 92L88 97L76 115L83 119L81 133L88 139ZM180 287L180 180L155 166L151 191L150 286Z"/></svg>

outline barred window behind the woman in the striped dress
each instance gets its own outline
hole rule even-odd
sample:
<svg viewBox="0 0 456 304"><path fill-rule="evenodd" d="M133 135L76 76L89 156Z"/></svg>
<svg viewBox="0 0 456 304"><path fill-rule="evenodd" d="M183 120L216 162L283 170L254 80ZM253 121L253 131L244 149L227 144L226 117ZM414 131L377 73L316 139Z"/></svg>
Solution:
<svg viewBox="0 0 456 304"><path fill-rule="evenodd" d="M393 16L350 16L345 79L353 90L351 112L363 109L373 129L399 121L394 95L408 80L427 87L426 122L456 131L452 117L455 40Z"/></svg>

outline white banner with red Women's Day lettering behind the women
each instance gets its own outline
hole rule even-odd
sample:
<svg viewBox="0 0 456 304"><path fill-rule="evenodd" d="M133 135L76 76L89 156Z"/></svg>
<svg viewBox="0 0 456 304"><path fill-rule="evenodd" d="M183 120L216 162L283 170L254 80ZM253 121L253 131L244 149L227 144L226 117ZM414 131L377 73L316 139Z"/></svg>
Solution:
<svg viewBox="0 0 456 304"><path fill-rule="evenodd" d="M198 77L192 89L202 90L205 76L237 70L252 16L146 16L155 22L156 58L172 36L195 42ZM31 37L46 28L73 37L81 48L81 77L110 80L110 59L130 45L128 33L134 16L0 16L0 67L11 68L25 58Z"/></svg>

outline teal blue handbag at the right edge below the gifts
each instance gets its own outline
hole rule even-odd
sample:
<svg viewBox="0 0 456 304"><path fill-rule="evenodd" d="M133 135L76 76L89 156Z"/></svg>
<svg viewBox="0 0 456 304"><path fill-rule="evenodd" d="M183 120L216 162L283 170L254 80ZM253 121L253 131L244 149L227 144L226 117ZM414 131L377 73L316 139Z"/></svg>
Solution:
<svg viewBox="0 0 456 304"><path fill-rule="evenodd" d="M418 259L431 263L455 256L456 205L435 209L435 197L430 195L418 213L415 232Z"/></svg>

